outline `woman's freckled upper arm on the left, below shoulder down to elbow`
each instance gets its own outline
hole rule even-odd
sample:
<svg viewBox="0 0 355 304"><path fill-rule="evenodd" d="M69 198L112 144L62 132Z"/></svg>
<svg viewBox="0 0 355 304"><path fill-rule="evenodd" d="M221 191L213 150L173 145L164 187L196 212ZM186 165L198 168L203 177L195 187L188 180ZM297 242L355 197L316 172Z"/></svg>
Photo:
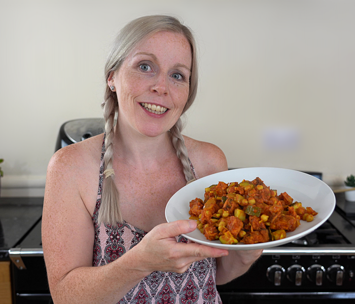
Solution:
<svg viewBox="0 0 355 304"><path fill-rule="evenodd" d="M42 244L53 286L73 269L92 266L94 227L80 194L77 162L75 147L61 149L47 170Z"/></svg>

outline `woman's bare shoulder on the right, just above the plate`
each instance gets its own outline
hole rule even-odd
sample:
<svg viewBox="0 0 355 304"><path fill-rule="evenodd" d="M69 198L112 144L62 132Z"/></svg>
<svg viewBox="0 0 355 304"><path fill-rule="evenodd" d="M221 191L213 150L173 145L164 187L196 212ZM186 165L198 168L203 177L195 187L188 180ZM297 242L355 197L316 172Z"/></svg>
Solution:
<svg viewBox="0 0 355 304"><path fill-rule="evenodd" d="M184 136L189 158L199 177L228 170L223 151L215 144Z"/></svg>

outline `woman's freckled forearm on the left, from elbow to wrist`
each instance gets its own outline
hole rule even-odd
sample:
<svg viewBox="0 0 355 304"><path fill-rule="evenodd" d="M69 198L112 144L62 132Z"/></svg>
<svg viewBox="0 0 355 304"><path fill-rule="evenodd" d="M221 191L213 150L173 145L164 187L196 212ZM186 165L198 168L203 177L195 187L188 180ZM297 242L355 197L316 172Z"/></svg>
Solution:
<svg viewBox="0 0 355 304"><path fill-rule="evenodd" d="M129 252L100 267L79 267L50 284L55 304L117 303L149 273L136 269Z"/></svg>

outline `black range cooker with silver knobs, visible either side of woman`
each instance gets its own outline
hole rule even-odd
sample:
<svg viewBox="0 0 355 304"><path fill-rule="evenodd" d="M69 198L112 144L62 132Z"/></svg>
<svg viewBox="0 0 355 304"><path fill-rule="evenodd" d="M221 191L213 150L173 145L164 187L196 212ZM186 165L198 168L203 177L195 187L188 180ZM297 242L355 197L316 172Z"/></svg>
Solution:
<svg viewBox="0 0 355 304"><path fill-rule="evenodd" d="M355 203L346 202L343 193L336 199L335 211L321 227L303 239L265 249L250 271L219 286L223 303L354 303ZM43 203L43 198L37 200ZM51 302L41 245L42 209L34 208L32 225L5 253L12 260L16 304Z"/></svg>

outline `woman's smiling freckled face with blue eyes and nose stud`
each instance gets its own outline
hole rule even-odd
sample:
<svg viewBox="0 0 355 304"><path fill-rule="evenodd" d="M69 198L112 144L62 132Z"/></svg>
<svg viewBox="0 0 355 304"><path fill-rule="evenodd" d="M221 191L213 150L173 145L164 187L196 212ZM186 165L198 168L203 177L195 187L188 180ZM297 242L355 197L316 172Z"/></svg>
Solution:
<svg viewBox="0 0 355 304"><path fill-rule="evenodd" d="M125 131L155 137L179 119L189 96L191 47L184 35L160 31L139 44L108 79Z"/></svg>

